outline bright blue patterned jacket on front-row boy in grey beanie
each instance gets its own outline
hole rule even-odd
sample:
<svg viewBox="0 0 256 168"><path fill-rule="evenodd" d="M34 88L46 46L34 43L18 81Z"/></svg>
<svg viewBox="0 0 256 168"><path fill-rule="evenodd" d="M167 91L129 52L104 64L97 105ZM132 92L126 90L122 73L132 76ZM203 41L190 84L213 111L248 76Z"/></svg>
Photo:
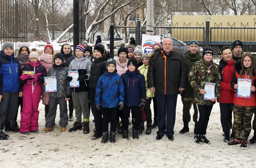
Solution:
<svg viewBox="0 0 256 168"><path fill-rule="evenodd" d="M124 103L124 83L117 73L106 72L100 76L95 93L95 104L101 107L118 107L119 102Z"/></svg>

